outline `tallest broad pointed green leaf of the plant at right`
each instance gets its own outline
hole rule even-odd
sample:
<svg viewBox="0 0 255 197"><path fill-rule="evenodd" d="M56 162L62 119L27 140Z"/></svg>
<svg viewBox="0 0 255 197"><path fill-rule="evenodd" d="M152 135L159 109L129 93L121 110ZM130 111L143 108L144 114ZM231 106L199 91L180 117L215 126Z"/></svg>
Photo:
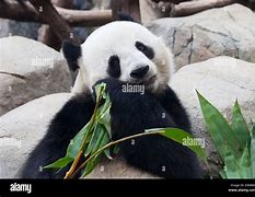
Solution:
<svg viewBox="0 0 255 197"><path fill-rule="evenodd" d="M197 91L198 100L200 103L201 112L206 121L206 126L210 137L216 146L221 160L224 160L224 146L228 144L229 150L235 158L240 158L241 144L225 118L221 113L211 105L204 96Z"/></svg>

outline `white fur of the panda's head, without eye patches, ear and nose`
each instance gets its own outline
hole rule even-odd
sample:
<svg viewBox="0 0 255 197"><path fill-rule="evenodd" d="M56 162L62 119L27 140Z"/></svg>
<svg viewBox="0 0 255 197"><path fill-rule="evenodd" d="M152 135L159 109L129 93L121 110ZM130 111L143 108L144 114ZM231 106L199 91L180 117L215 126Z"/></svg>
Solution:
<svg viewBox="0 0 255 197"><path fill-rule="evenodd" d="M141 42L154 50L150 60L139 51L135 43ZM119 80L130 82L130 72L139 65L150 67L149 74L157 74L153 90L158 91L167 84L174 72L172 53L162 39L142 25L134 22L113 22L94 31L81 45L82 56L80 71L72 92L91 91L92 85L107 77L108 59L117 55L120 59L121 76Z"/></svg>

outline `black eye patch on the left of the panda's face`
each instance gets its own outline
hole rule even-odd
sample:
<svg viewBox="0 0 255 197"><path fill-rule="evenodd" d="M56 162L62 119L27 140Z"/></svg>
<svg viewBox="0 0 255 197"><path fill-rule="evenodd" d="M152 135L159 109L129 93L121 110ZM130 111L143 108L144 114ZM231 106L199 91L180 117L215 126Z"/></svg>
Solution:
<svg viewBox="0 0 255 197"><path fill-rule="evenodd" d="M114 55L114 56L109 57L107 73L112 78L119 78L120 77L120 60L119 60L118 56Z"/></svg>

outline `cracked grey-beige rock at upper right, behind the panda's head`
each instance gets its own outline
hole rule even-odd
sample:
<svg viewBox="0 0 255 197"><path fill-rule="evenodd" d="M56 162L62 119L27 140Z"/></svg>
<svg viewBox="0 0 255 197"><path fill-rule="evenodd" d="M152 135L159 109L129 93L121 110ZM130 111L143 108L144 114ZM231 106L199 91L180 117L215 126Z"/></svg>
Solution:
<svg viewBox="0 0 255 197"><path fill-rule="evenodd" d="M178 69L217 56L255 62L254 21L248 8L232 4L186 18L155 20L148 27L163 37Z"/></svg>

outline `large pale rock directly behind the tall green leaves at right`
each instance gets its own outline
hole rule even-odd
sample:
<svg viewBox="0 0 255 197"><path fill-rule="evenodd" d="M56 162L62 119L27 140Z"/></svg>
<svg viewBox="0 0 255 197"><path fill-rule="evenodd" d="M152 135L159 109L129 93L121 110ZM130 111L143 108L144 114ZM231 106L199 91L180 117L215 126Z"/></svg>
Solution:
<svg viewBox="0 0 255 197"><path fill-rule="evenodd" d="M187 108L196 136L206 139L210 157L210 167L217 176L219 162L216 150L205 128L195 89L200 92L230 120L232 107L239 100L247 123L255 121L255 63L231 57L217 57L207 61L189 65L179 69L171 86Z"/></svg>

